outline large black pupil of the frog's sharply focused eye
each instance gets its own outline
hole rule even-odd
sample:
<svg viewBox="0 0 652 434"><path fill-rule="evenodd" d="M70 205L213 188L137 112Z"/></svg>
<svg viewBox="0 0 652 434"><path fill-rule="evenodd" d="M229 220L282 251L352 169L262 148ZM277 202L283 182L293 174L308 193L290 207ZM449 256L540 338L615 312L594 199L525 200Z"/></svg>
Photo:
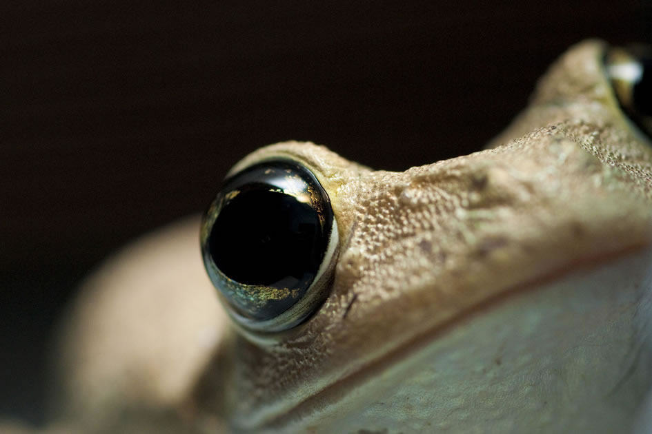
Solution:
<svg viewBox="0 0 652 434"><path fill-rule="evenodd" d="M246 285L309 285L323 251L319 215L294 196L260 185L221 209L208 241L210 256L228 278Z"/></svg>

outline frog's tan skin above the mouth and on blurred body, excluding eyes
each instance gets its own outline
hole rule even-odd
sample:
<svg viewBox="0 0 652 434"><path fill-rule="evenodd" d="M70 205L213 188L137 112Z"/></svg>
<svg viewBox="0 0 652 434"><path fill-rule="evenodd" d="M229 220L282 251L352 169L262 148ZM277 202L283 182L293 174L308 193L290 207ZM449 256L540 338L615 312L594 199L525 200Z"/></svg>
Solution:
<svg viewBox="0 0 652 434"><path fill-rule="evenodd" d="M128 411L152 431L156 420L212 432L317 429L351 384L406 349L520 288L649 245L652 148L618 108L604 48L589 41L564 54L482 152L401 173L310 143L244 158L232 172L286 156L328 192L340 249L324 305L291 331L244 335L201 269L198 221L159 231L91 278L72 309L62 420L116 426Z"/></svg>

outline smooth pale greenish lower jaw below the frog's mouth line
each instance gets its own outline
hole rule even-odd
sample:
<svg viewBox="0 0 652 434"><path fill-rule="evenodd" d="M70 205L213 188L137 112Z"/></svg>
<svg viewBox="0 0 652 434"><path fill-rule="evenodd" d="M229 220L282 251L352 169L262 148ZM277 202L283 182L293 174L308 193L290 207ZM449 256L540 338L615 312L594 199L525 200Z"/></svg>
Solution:
<svg viewBox="0 0 652 434"><path fill-rule="evenodd" d="M629 432L652 382L651 264L648 247L510 291L308 398L270 430Z"/></svg>

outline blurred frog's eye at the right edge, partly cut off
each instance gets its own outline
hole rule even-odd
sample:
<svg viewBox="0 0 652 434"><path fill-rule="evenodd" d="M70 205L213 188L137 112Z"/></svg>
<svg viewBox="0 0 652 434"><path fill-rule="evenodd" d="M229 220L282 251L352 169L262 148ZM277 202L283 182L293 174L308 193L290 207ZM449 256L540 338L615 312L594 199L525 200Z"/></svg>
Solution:
<svg viewBox="0 0 652 434"><path fill-rule="evenodd" d="M612 48L606 54L606 72L620 106L641 129L652 136L652 53Z"/></svg>

